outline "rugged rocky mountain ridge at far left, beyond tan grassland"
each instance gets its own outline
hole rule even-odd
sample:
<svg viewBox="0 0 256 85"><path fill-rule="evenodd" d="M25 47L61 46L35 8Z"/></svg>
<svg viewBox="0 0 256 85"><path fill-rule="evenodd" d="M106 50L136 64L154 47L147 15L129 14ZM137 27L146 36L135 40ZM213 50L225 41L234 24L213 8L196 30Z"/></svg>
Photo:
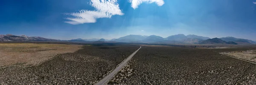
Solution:
<svg viewBox="0 0 256 85"><path fill-rule="evenodd" d="M0 41L60 41L42 37L28 37L26 35L15 36L12 34L0 35Z"/></svg>

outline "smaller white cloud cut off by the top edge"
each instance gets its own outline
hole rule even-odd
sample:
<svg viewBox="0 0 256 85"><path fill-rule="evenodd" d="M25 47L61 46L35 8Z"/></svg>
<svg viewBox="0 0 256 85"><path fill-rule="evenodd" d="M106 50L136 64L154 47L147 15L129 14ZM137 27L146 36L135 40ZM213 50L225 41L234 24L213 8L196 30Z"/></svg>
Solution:
<svg viewBox="0 0 256 85"><path fill-rule="evenodd" d="M158 6L164 4L163 0L130 0L131 7L136 9L141 3L156 3Z"/></svg>

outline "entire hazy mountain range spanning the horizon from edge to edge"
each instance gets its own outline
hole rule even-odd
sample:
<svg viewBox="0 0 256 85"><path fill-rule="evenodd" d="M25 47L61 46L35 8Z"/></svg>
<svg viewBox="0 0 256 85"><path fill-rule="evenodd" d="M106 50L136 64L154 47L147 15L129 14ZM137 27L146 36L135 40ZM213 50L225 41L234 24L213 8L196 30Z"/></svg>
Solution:
<svg viewBox="0 0 256 85"><path fill-rule="evenodd" d="M55 39L48 39L42 37L28 37L25 35L15 36L12 34L0 35L0 41L61 41ZM72 39L69 41L78 41L78 42L125 42L125 43L154 43L154 44L256 44L255 41L234 38L234 37L223 37L223 38L209 38L204 36L197 35L187 35L177 34L163 38L161 36L151 35L151 36L142 36L142 35L128 35L120 38L108 39Z"/></svg>

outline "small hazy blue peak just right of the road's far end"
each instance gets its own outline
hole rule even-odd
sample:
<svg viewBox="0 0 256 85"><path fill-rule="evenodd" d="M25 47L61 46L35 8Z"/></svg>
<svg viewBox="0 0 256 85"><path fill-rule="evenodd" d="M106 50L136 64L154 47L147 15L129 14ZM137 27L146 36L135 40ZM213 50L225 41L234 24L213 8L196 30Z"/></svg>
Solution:
<svg viewBox="0 0 256 85"><path fill-rule="evenodd" d="M155 36L155 35L151 35L146 37L143 42L150 42L150 43L154 43L154 42L159 42L159 41L163 41L164 38L160 37L160 36Z"/></svg>

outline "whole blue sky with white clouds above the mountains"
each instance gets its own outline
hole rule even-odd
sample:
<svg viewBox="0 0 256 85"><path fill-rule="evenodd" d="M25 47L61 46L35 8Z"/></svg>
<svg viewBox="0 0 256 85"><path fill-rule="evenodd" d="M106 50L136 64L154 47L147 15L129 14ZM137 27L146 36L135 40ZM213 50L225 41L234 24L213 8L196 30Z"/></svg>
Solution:
<svg viewBox="0 0 256 85"><path fill-rule="evenodd" d="M70 40L181 33L256 41L256 0L0 1L0 34Z"/></svg>

